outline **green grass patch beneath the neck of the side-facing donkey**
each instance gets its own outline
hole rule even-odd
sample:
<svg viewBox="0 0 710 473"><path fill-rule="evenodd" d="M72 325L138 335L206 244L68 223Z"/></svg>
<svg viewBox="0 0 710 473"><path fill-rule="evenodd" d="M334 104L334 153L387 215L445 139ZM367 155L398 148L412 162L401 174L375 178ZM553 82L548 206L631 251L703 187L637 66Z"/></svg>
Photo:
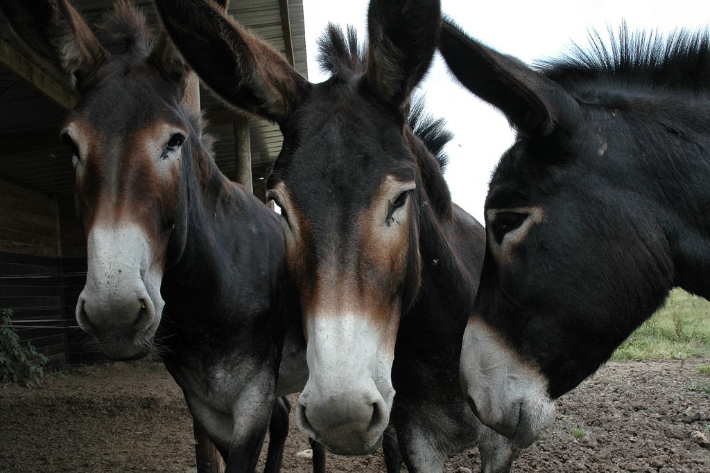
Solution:
<svg viewBox="0 0 710 473"><path fill-rule="evenodd" d="M674 289L665 306L636 329L611 359L643 361L709 357L710 302ZM710 373L710 365L701 369Z"/></svg>

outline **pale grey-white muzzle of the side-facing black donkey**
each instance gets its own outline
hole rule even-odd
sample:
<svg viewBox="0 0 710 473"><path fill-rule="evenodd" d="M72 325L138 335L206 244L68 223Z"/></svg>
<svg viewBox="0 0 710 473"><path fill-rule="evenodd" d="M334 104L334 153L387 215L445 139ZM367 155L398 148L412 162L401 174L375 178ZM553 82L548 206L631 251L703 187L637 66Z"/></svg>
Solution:
<svg viewBox="0 0 710 473"><path fill-rule="evenodd" d="M471 318L461 347L461 389L482 423L528 447L555 422L547 379Z"/></svg>

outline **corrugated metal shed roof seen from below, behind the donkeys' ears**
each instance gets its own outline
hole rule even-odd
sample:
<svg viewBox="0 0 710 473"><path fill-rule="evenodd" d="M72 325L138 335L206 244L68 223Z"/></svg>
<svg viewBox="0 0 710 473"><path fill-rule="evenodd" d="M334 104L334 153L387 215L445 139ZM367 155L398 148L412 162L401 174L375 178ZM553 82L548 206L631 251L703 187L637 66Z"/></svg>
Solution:
<svg viewBox="0 0 710 473"><path fill-rule="evenodd" d="M104 11L113 5L111 0L75 0L89 23L102 21ZM148 21L155 24L156 14L151 1L133 1L141 7ZM232 1L229 13L261 38L285 54L278 0ZM289 1L290 28L296 69L307 77L305 27L302 0ZM4 16L0 14L0 38L25 51L14 37ZM43 70L58 82L62 74L51 68ZM202 89L202 108L223 111L224 105L211 92ZM60 123L66 111L0 65L0 179L19 182L50 194L71 194L73 173L70 152L58 139ZM282 137L278 126L266 121L249 124L251 154L254 167L273 164L280 152ZM220 169L229 174L235 169L234 130L231 123L217 123L207 131L217 138L215 160ZM26 146L23 143L27 143ZM13 149L11 154L7 149ZM20 149L21 148L21 149Z"/></svg>

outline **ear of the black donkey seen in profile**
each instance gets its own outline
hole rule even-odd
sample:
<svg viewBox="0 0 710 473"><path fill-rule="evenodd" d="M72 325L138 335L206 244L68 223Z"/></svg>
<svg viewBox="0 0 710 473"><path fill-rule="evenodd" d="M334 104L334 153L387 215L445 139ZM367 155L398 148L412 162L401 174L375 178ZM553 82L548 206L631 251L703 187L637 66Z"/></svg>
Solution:
<svg viewBox="0 0 710 473"><path fill-rule="evenodd" d="M469 38L448 18L442 23L439 50L466 89L500 108L523 133L545 136L579 122L577 101L557 82Z"/></svg>

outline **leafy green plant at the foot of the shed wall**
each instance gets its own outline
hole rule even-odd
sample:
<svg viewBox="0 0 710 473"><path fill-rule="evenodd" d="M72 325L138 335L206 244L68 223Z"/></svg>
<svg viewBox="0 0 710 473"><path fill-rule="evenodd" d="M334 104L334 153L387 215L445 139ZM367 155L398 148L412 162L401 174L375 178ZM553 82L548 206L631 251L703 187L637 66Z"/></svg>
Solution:
<svg viewBox="0 0 710 473"><path fill-rule="evenodd" d="M0 382L14 382L28 388L42 384L47 357L29 342L23 345L12 326L13 311L0 313Z"/></svg>

